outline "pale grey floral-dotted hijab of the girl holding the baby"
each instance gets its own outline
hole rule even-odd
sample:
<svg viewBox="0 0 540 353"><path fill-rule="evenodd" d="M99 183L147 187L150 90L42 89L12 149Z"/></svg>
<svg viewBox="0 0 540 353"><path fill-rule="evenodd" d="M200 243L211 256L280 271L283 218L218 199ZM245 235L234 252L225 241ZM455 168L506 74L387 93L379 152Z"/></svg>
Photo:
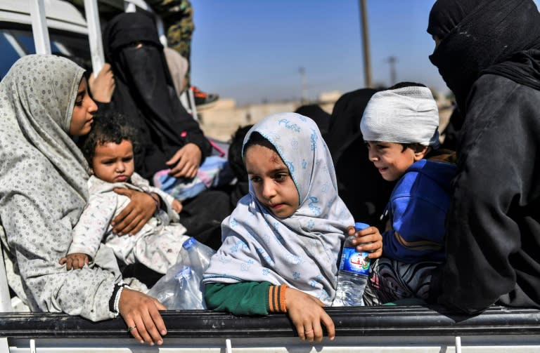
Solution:
<svg viewBox="0 0 540 353"><path fill-rule="evenodd" d="M83 72L66 58L27 55L0 82L0 222L7 236L2 241L6 250L25 255L6 262L10 286L23 299L19 273L51 273L44 259L57 264L65 255L70 233L59 234L72 229L86 204L86 161L68 135ZM31 261L34 253L39 269ZM37 309L32 299L28 304Z"/></svg>

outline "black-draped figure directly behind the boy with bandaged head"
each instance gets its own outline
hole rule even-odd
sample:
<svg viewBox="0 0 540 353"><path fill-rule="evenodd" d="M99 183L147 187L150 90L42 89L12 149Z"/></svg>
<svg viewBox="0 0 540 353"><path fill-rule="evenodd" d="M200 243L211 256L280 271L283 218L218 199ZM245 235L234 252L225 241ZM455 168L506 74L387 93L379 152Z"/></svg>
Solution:
<svg viewBox="0 0 540 353"><path fill-rule="evenodd" d="M378 90L361 88L335 102L326 143L335 166L340 197L358 222L383 229L380 215L395 185L387 182L368 159L360 121L371 96Z"/></svg>

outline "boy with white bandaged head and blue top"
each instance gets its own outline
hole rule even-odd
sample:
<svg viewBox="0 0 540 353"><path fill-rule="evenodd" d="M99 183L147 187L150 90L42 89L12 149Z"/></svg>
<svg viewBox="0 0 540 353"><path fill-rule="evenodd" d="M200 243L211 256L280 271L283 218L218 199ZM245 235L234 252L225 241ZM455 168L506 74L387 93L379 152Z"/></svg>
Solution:
<svg viewBox="0 0 540 353"><path fill-rule="evenodd" d="M397 180L383 214L383 257L372 265L367 305L428 298L431 271L444 260L456 166L426 159L439 147L438 127L437 103L422 84L375 93L364 111L360 128L369 159L385 180Z"/></svg>

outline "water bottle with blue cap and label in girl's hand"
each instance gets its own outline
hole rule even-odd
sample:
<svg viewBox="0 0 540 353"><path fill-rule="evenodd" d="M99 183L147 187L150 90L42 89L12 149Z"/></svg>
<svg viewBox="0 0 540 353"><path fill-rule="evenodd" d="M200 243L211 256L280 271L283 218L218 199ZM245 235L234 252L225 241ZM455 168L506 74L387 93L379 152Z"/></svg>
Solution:
<svg viewBox="0 0 540 353"><path fill-rule="evenodd" d="M365 223L354 223L354 229L358 232L366 229L369 225ZM369 276L369 253L366 251L357 251L356 244L353 246L352 235L345 239L345 245L341 253L340 269L338 269L338 288L335 291L333 307L359 307L364 306L364 288L368 283Z"/></svg>

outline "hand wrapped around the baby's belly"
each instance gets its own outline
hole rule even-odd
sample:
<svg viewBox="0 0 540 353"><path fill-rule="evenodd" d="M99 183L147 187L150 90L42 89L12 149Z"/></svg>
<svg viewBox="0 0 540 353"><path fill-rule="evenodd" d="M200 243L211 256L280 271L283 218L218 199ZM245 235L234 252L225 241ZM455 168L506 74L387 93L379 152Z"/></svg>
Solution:
<svg viewBox="0 0 540 353"><path fill-rule="evenodd" d="M114 190L117 194L129 197L131 202L111 222L113 232L118 235L136 234L157 210L155 200L145 192L122 187L116 187Z"/></svg>

